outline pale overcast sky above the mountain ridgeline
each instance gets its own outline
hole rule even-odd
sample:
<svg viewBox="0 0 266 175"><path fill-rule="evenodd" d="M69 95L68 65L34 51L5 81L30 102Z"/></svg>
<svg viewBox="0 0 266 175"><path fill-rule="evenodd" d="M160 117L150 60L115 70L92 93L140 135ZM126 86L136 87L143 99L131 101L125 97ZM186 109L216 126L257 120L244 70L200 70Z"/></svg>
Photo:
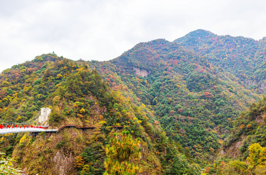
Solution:
<svg viewBox="0 0 266 175"><path fill-rule="evenodd" d="M52 51L110 60L196 29L262 39L266 0L0 0L0 71Z"/></svg>

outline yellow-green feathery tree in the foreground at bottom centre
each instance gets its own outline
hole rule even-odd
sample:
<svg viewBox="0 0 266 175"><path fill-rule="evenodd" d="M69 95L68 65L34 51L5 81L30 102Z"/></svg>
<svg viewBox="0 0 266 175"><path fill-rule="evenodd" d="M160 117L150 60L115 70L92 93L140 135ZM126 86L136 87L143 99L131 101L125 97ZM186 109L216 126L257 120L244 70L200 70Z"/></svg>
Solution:
<svg viewBox="0 0 266 175"><path fill-rule="evenodd" d="M140 139L134 140L129 131L122 131L122 136L114 133L112 146L106 145L106 159L104 175L137 175L141 172Z"/></svg>

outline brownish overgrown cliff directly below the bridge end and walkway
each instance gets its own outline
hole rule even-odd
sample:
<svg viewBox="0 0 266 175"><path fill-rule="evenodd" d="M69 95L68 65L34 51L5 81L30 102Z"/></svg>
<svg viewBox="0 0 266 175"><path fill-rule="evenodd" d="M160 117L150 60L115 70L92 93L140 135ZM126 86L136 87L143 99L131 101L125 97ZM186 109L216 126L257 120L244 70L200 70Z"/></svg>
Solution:
<svg viewBox="0 0 266 175"><path fill-rule="evenodd" d="M53 133L50 137L40 133L33 142L26 133L14 149L14 164L25 175L76 175L75 157L88 146L87 137L93 134L92 130L83 133L71 128Z"/></svg>

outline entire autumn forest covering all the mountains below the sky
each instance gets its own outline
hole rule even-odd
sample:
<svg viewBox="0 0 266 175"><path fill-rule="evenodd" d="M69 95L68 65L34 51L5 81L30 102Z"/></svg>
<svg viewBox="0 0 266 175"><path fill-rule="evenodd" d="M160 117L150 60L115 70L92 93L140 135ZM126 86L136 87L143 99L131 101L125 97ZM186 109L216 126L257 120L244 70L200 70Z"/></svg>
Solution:
<svg viewBox="0 0 266 175"><path fill-rule="evenodd" d="M110 61L49 53L12 66L0 74L1 119L47 105L51 129L96 129L13 134L0 152L27 175L263 175L265 41L196 30Z"/></svg>

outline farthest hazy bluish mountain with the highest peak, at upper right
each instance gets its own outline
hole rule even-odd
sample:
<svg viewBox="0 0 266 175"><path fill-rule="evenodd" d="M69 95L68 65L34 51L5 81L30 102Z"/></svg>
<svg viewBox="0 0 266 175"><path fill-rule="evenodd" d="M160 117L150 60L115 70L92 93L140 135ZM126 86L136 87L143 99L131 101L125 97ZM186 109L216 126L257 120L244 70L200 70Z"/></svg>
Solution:
<svg viewBox="0 0 266 175"><path fill-rule="evenodd" d="M174 42L206 56L210 63L233 73L247 87L266 91L266 38L256 41L199 29Z"/></svg>

